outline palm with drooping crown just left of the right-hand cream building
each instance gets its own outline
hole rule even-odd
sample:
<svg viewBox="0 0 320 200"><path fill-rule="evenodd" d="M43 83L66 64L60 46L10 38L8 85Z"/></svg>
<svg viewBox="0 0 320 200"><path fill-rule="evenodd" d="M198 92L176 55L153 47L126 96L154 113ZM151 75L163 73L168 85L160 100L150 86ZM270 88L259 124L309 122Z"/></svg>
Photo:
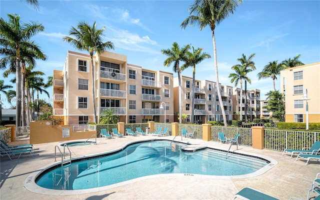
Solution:
<svg viewBox="0 0 320 200"><path fill-rule="evenodd" d="M269 62L267 65L264 66L263 70L261 72L259 72L257 74L258 76L258 79L261 79L261 78L272 78L273 80L273 88L274 88L274 91L276 90L275 89L275 79L277 75L280 74L280 71L284 69L284 65L282 63L279 63L278 64L278 61L272 61L272 62Z"/></svg>

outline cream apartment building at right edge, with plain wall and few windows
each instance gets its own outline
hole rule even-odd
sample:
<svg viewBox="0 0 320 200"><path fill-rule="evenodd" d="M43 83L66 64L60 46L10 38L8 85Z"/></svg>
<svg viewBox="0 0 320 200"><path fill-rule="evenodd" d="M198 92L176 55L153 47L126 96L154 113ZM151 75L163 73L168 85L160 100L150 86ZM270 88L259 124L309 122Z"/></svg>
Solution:
<svg viewBox="0 0 320 200"><path fill-rule="evenodd" d="M285 96L285 122L320 122L320 62L290 67L280 72L280 90ZM307 99L302 100L307 90Z"/></svg>

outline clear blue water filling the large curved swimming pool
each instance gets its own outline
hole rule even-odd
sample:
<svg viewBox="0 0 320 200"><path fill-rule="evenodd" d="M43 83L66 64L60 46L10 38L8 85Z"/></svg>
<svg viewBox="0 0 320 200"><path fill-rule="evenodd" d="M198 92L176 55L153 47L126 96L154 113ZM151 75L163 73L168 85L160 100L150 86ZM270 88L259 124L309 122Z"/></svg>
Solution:
<svg viewBox="0 0 320 200"><path fill-rule="evenodd" d="M184 152L182 146L161 140L130 144L114 154L59 166L41 174L36 184L49 189L87 189L161 173L241 175L268 164L209 148Z"/></svg>

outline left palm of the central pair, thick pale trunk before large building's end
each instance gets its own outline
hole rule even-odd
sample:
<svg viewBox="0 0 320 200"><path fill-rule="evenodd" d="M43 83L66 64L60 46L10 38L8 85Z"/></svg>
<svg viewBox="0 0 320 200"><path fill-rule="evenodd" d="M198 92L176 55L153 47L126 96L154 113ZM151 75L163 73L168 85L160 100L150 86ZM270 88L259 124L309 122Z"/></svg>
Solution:
<svg viewBox="0 0 320 200"><path fill-rule="evenodd" d="M173 42L171 49L162 49L161 53L168 57L164 60L164 66L169 66L173 62L172 70L178 74L179 82L179 116L182 116L182 85L180 73L183 69L180 68L179 62L186 60L186 53L189 50L190 45L187 44L183 47L179 47L177 42ZM179 123L182 123L182 118L179 118Z"/></svg>

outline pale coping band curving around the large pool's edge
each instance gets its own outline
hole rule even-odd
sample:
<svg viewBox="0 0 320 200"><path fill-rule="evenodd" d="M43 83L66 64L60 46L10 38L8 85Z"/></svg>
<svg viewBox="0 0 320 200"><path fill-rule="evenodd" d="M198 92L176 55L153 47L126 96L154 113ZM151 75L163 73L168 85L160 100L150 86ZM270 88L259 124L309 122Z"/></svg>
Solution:
<svg viewBox="0 0 320 200"><path fill-rule="evenodd" d="M172 141L170 139L162 139L162 138L141 139L141 140L137 140L137 141L127 142L127 143L121 145L120 147L112 149L112 150L109 150L109 151L103 151L103 152L100 152L100 153L93 153L93 154L87 154L87 155L81 155L81 156L73 157L73 158L71 158L71 161L75 160L75 159L81 159L81 158L84 158L84 157L88 157L88 156L99 156L99 155L102 155L102 154L117 152L119 150L123 150L126 146L128 146L130 144L133 144L133 143L139 143L139 142L143 142L143 141L154 141L154 140ZM189 145L196 145L196 144L190 144L189 142L181 142L181 141L174 141L174 142L184 143L184 144L189 144ZM211 146L211 145L201 145L201 148L213 148L213 149L226 151L224 148L219 148L217 146ZM151 179L151 178L156 178L156 177L196 176L196 177L200 177L200 178L221 178L221 179L249 178L249 177L254 177L254 176L261 175L261 174L265 173L266 171L268 171L269 169L271 169L272 167L274 167L276 164L278 164L278 161L276 161L275 159L273 159L271 157L268 157L268 156L265 156L265 155L261 155L261 154L245 152L245 151L241 151L240 149L232 150L232 151L229 151L229 152L235 152L235 151L236 151L236 153L240 153L240 154L245 154L245 155L249 155L249 156L255 156L255 157L260 157L262 159L266 159L266 160L269 161L269 163L267 165L263 166L262 168L252 172L252 173L243 174L243 175L221 176L221 175L203 175L203 174L192 174L192 173L162 173L162 174L153 174L153 175L142 176L142 177L138 177L138 178L134 178L134 179L118 182L118 183L111 184L111 185L95 187L95 188L88 188L88 189L57 190L57 189L47 189L47 188L38 186L35 183L36 178L44 170L47 170L47 168L55 166L55 165L57 165L58 163L61 162L61 161L54 161L53 163L47 164L47 165L45 165L43 167L40 167L38 170L30 173L24 179L24 187L26 189L28 189L29 191L32 191L32 192L35 192L35 193L40 193L40 194L47 194L47 195L74 195L74 194L83 194L83 193L91 193L91 192L103 191L103 190L107 190L107 189L123 186L123 185L129 184L129 183L137 182L137 181L140 181L140 180Z"/></svg>

